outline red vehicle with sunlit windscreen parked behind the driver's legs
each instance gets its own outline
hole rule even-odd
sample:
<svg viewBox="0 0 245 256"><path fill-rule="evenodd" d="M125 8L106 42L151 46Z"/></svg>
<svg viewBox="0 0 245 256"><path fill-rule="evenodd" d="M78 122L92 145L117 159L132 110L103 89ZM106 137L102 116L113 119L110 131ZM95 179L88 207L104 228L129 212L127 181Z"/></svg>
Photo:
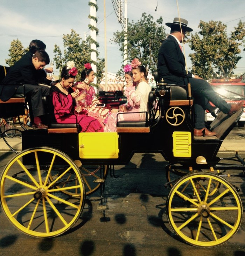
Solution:
<svg viewBox="0 0 245 256"><path fill-rule="evenodd" d="M244 80L245 82L245 80ZM245 83L241 82L241 79L212 79L212 88L228 103L239 103L245 100ZM211 103L213 106L213 104ZM239 127L245 125L245 105L244 112L238 121ZM206 110L205 122L212 122L215 118Z"/></svg>

